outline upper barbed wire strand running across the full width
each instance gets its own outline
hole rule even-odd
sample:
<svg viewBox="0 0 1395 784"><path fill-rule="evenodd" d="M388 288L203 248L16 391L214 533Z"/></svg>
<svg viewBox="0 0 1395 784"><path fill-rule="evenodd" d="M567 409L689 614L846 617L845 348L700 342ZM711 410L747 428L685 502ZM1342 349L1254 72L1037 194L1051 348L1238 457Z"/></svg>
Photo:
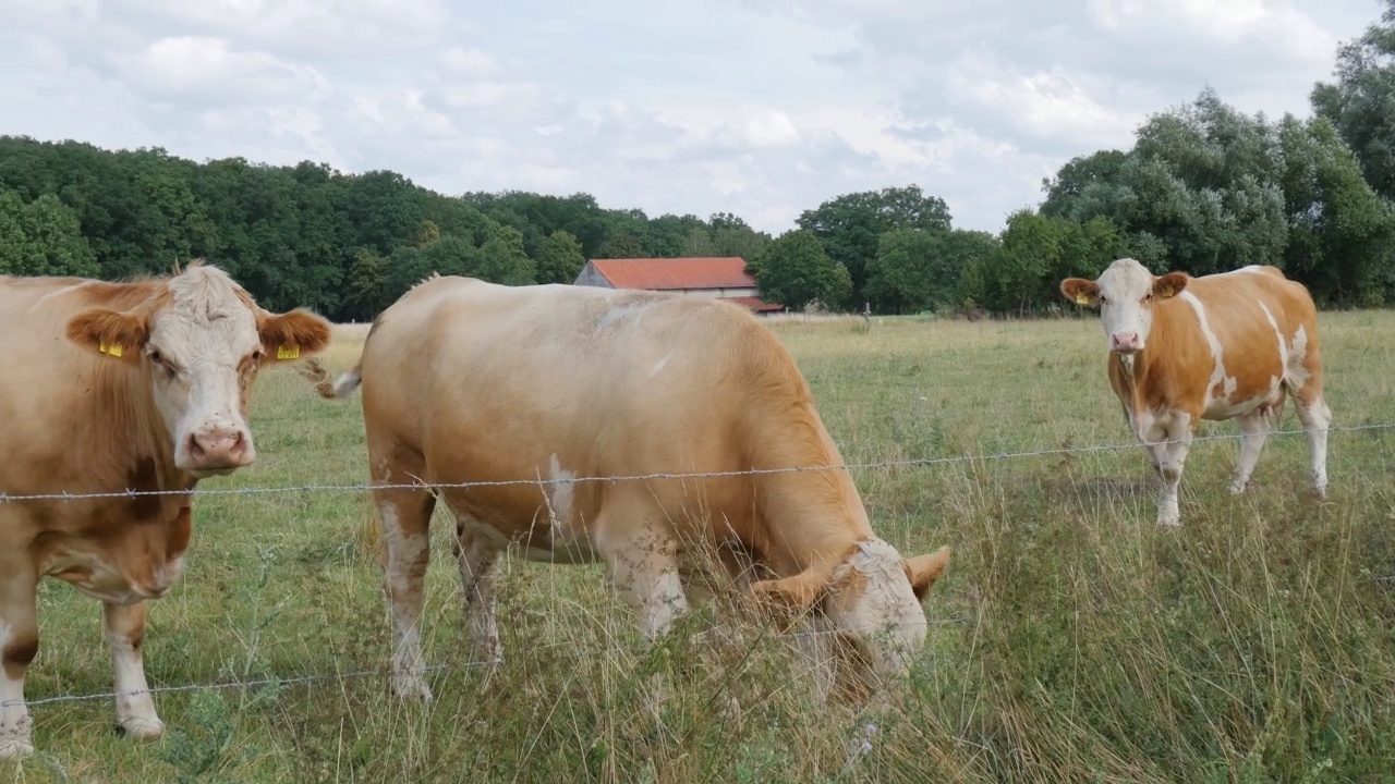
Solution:
<svg viewBox="0 0 1395 784"><path fill-rule="evenodd" d="M1395 430L1395 423L1331 425L1328 432L1353 432ZM1311 428L1272 430L1268 438L1283 435L1306 435ZM1175 444L1204 444L1209 441L1236 441L1244 438L1243 432L1226 432L1216 435L1197 435L1189 439L1170 439L1149 442L1149 446L1163 446ZM371 490L467 490L472 487L513 487L540 485L555 487L561 484L580 483L621 483L621 481L650 481L650 480L682 480L682 478L721 478L738 476L763 476L805 472L851 472L868 469L918 467L950 463L972 463L989 460L1013 460L1025 458L1049 458L1056 455L1089 455L1096 452L1117 452L1123 449L1141 449L1140 441L1099 444L1094 446L1059 446L1052 449L1030 449L1021 452L997 452L990 455L951 455L942 458L905 458L900 460L877 460L869 463L841 463L831 466L783 466L776 469L737 469L725 472L656 472L646 474L622 476L585 476L585 477L554 477L554 478L505 478L505 480L473 480L473 481L413 481L413 483L352 483L352 484L297 484L278 487L232 487L232 488L191 488L191 490L114 490L106 492L33 492L33 494L4 494L0 492L0 504L18 501L81 501L96 498L140 498L146 495L272 495L280 492L364 492Z"/></svg>

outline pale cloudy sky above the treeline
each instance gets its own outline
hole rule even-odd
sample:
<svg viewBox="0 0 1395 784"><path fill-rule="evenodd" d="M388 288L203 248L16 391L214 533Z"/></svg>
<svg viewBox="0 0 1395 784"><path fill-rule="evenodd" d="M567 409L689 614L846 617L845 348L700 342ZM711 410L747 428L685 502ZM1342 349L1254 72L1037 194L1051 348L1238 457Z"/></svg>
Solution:
<svg viewBox="0 0 1395 784"><path fill-rule="evenodd" d="M915 184L999 232L1208 85L1310 116L1381 0L0 0L0 134L391 169L778 234Z"/></svg>

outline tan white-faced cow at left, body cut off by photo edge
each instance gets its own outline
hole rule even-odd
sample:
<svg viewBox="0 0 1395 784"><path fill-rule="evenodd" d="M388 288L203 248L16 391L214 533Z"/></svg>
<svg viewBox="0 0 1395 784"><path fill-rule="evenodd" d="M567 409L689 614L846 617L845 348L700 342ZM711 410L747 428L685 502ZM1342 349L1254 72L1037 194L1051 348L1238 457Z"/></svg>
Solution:
<svg viewBox="0 0 1395 784"><path fill-rule="evenodd" d="M128 692L146 689L146 600L184 568L191 499L177 491L255 460L252 378L321 350L329 324L266 312L195 261L131 283L0 276L0 757L33 751L24 674L45 576L103 603L117 721L159 737L151 695ZM126 491L176 492L25 498Z"/></svg>

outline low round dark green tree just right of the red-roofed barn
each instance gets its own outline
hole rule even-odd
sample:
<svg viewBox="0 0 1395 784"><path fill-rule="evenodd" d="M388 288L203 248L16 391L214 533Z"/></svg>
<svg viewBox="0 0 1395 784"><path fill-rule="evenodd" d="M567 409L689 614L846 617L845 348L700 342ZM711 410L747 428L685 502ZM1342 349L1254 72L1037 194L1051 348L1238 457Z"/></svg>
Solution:
<svg viewBox="0 0 1395 784"><path fill-rule="evenodd" d="M790 308L801 310L819 300L837 310L852 293L847 268L829 258L812 232L788 232L771 240L752 266L760 296Z"/></svg>

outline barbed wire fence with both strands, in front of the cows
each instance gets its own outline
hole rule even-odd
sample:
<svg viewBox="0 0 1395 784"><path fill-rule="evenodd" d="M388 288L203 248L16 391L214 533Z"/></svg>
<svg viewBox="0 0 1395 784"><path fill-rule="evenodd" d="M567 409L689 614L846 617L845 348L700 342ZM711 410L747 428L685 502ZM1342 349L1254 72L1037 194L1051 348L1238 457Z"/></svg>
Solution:
<svg viewBox="0 0 1395 784"><path fill-rule="evenodd" d="M1328 432L1378 432L1395 430L1395 423L1367 423L1357 425L1329 425ZM1307 435L1307 428L1290 428L1290 430L1271 430L1268 437L1292 437L1292 435ZM1212 435L1197 435L1186 442L1189 444L1204 444L1216 441L1236 441L1244 438L1240 432L1225 432ZM1179 444L1182 441L1162 441L1155 442L1158 445L1163 444ZM271 495L271 494L286 494L286 492L367 492L372 490L444 490L444 488L473 488L473 487L509 487L509 485L540 485L540 487L555 487L559 484L580 484L580 483L622 483L622 481L654 481L654 480L686 480L686 478L720 478L720 477L735 477L735 476L760 476L760 474L783 474L783 473L804 473L804 472L834 472L834 470L872 470L872 469L893 469L893 467L926 467L926 466L944 466L956 463L974 463L974 462L999 462L999 460L1017 460L1030 458L1049 458L1049 456L1067 456L1067 455L1091 455L1103 452L1117 452L1127 449L1143 449L1138 441L1130 442L1115 442L1115 444L1099 444L1091 446L1060 446L1050 449L1025 449L1025 451L1011 451L1011 452L996 452L996 453L979 453L979 455L950 455L939 458L907 458L898 460L875 460L862 463L843 463L830 466L787 466L787 467L773 467L773 469L746 469L746 470L727 470L727 472L657 472L646 474L629 474L629 476L585 476L585 477L555 477L555 478L518 478L518 480L481 480L481 481L460 481L460 483L428 483L428 481L414 481L410 484L374 484L374 483L345 483L345 484L300 484L300 485L279 485L279 487L237 487L237 488L193 488L193 490L126 490L126 491L109 491L109 492L40 492L40 494L3 494L0 492L0 505L4 504L22 504L27 501L80 501L80 499L114 499L114 498L137 498L146 495ZM951 625L967 622L965 617L950 617L942 619L929 619L929 625ZM718 631L718 629L713 629ZM707 633L707 632L704 632ZM795 633L781 633L777 635L783 639L801 639L801 638L819 638L824 635L837 635L837 631L806 631ZM561 646L569 643L550 643L551 646ZM534 646L536 647L536 646ZM618 646L608 646L608 650L619 651ZM488 658L488 660L470 660L458 661L452 664L439 664L425 667L425 672L442 672L442 671L467 671L481 667L491 667L502 664L502 660ZM364 679L364 678L391 678L392 671L389 668L365 668L365 670L350 670L350 671L335 671L335 672L308 672L299 675L285 675L285 677L265 677L252 679L230 679L230 681L216 681L216 682L191 682L191 684L176 684L163 686L151 686L141 691L127 691L127 692L82 692L82 693L60 693L45 698L35 699L11 699L0 702L0 709L10 707L15 704L27 706L40 706L53 703L73 703L73 702L89 702L89 700L103 700L103 699L117 699L123 696L137 696L142 693L179 693L179 692L199 692L199 691L227 691L227 689L255 689L255 688L282 688L293 686L301 684L315 684L322 681L349 681L349 679Z"/></svg>

